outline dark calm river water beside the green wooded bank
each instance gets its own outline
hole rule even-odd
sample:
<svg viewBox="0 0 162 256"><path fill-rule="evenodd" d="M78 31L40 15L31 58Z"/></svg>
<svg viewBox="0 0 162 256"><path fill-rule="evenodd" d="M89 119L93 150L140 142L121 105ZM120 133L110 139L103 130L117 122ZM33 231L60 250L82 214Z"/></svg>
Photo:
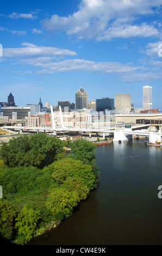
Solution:
<svg viewBox="0 0 162 256"><path fill-rule="evenodd" d="M142 139L97 146L96 155L97 189L29 245L162 245L162 148Z"/></svg>

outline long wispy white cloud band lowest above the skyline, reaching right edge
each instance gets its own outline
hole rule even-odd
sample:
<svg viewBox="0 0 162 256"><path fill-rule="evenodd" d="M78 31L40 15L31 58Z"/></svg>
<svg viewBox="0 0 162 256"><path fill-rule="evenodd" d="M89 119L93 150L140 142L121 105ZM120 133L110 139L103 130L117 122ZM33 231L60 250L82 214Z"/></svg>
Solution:
<svg viewBox="0 0 162 256"><path fill-rule="evenodd" d="M160 72L149 71L145 66L133 66L132 63L92 62L84 59L64 60L62 62L37 63L42 70L38 74L55 74L58 72L83 71L100 74L117 75L123 82L150 81L162 78ZM160 64L159 64L160 66Z"/></svg>

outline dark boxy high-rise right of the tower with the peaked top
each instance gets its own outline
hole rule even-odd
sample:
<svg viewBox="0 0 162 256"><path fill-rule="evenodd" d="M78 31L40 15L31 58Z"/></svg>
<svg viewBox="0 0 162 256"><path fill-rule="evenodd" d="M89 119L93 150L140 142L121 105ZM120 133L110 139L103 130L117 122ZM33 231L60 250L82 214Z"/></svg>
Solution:
<svg viewBox="0 0 162 256"><path fill-rule="evenodd" d="M114 109L114 99L104 97L102 99L96 100L96 111L105 111L105 109Z"/></svg>

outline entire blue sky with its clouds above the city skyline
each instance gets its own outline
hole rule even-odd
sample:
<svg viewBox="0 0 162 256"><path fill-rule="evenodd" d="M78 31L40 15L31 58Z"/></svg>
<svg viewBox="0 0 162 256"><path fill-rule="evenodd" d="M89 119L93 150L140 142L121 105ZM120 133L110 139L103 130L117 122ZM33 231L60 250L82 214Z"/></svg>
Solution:
<svg viewBox="0 0 162 256"><path fill-rule="evenodd" d="M75 103L153 87L162 109L162 0L0 0L0 101Z"/></svg>

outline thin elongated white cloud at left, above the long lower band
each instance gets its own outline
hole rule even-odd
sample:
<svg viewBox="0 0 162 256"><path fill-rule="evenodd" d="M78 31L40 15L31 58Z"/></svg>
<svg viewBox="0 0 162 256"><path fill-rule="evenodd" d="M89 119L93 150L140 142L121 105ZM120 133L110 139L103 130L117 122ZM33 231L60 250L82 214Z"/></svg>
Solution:
<svg viewBox="0 0 162 256"><path fill-rule="evenodd" d="M32 57L43 57L43 56L74 56L77 53L55 47L46 47L46 46L36 46L29 44L28 42L23 42L22 48L4 48L3 56L4 57L15 57L15 58L32 58Z"/></svg>

